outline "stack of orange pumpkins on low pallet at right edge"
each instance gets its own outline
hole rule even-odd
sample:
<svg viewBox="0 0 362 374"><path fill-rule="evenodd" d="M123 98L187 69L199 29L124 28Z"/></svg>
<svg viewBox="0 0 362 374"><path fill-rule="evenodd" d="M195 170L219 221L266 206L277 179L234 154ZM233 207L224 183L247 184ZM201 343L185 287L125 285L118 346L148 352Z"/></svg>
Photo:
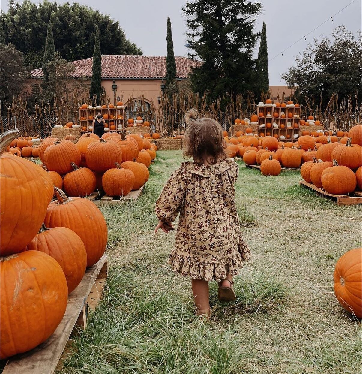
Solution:
<svg viewBox="0 0 362 374"><path fill-rule="evenodd" d="M318 147L313 160L302 165L301 177L333 195L347 195L356 187L362 190L362 125L350 129L345 144L331 138Z"/></svg>

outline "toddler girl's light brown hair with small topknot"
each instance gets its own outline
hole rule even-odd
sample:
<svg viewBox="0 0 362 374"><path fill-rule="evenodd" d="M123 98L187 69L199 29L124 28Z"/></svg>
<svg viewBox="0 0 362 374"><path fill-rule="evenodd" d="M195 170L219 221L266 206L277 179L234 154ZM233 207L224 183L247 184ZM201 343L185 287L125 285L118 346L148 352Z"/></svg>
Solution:
<svg viewBox="0 0 362 374"><path fill-rule="evenodd" d="M194 159L198 165L204 163L207 157L211 163L225 160L223 129L219 122L212 118L198 118L198 111L191 109L185 116L188 125L185 131L183 157Z"/></svg>

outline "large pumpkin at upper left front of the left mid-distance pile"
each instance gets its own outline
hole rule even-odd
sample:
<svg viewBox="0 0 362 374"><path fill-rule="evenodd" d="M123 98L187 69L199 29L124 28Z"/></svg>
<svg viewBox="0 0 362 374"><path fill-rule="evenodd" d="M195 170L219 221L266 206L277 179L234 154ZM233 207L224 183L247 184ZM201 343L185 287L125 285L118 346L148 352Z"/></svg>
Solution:
<svg viewBox="0 0 362 374"><path fill-rule="evenodd" d="M80 151L69 140L54 142L44 152L44 164L49 171L56 171L64 175L72 171L71 163L79 166L81 161Z"/></svg>

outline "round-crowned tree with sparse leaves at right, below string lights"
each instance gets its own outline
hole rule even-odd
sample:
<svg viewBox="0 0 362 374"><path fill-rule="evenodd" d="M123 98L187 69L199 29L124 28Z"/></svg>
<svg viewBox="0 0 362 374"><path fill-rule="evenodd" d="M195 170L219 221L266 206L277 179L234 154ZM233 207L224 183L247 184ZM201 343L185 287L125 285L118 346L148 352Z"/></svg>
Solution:
<svg viewBox="0 0 362 374"><path fill-rule="evenodd" d="M303 54L296 56L296 64L282 78L295 89L295 98L305 104L305 98L321 103L325 110L333 93L338 101L347 95L362 100L362 38L348 31L343 25L332 32L332 40L315 39Z"/></svg>

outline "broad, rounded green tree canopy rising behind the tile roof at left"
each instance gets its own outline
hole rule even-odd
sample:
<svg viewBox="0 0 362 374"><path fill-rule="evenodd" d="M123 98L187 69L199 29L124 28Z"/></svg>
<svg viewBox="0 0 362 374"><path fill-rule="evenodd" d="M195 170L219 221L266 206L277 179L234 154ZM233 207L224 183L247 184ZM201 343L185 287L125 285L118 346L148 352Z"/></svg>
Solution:
<svg viewBox="0 0 362 374"><path fill-rule="evenodd" d="M126 39L118 21L78 3L57 4L44 0L34 4L9 1L9 10L1 14L5 40L24 53L25 63L42 65L48 22L52 20L55 50L68 61L89 58L93 53L96 25L102 49L112 54L141 55L142 51Z"/></svg>

